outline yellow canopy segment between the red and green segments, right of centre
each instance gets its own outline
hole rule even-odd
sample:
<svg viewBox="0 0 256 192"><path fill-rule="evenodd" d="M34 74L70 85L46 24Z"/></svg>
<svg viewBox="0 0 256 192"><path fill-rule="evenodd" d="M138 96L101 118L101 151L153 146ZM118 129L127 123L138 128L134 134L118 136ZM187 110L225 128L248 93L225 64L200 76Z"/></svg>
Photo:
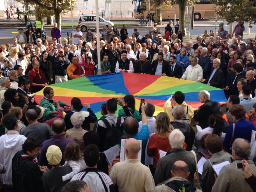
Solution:
<svg viewBox="0 0 256 192"><path fill-rule="evenodd" d="M149 85L149 86L145 87L143 90L135 93L134 96L150 94L150 93L154 93L156 91L168 89L170 87L195 82L195 81L188 81L188 80L182 80L182 79L177 79L177 78L172 78L172 79L170 79L170 78L171 77L162 76L159 79L157 79L154 83L152 83L151 85Z"/></svg>

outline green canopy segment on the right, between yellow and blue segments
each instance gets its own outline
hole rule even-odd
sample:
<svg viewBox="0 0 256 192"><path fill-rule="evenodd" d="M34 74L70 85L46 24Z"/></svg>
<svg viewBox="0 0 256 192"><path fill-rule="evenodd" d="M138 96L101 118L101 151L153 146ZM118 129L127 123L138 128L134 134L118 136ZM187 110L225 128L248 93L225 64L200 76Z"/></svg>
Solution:
<svg viewBox="0 0 256 192"><path fill-rule="evenodd" d="M154 93L149 93L149 94L144 94L140 95L142 96L148 96L148 95L168 95L169 93L175 93L176 91L181 91L183 93L190 93L190 92L199 92L202 90L207 90L207 91L214 91L214 90L219 90L219 88L212 87L203 83L188 83L188 84L183 84L183 85L177 85L173 87L169 87L167 89L163 89L160 91L156 91Z"/></svg>

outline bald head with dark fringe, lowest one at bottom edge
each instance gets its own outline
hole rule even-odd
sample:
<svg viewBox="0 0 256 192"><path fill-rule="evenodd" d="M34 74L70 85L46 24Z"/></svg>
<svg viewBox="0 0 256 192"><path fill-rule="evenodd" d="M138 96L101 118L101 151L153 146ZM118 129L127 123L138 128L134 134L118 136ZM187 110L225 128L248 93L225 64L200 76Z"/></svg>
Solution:
<svg viewBox="0 0 256 192"><path fill-rule="evenodd" d="M189 175L187 163L184 161L176 161L172 166L171 173L173 177L180 176L187 179Z"/></svg>

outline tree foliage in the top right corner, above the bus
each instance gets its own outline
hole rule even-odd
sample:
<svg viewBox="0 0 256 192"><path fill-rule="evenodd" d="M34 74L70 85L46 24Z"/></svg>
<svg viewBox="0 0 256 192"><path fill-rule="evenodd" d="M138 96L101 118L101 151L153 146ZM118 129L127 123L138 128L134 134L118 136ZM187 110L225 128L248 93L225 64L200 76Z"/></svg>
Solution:
<svg viewBox="0 0 256 192"><path fill-rule="evenodd" d="M256 24L255 0L218 0L212 3L218 5L217 14L228 23L241 20L250 25L251 23Z"/></svg>

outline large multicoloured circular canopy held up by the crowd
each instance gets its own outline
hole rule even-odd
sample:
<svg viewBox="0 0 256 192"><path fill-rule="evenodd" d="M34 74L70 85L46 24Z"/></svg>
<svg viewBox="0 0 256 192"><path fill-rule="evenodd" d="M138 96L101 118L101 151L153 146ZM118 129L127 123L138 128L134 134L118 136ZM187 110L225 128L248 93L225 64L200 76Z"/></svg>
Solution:
<svg viewBox="0 0 256 192"><path fill-rule="evenodd" d="M213 101L221 104L226 102L226 97L222 89L208 86L203 83L180 80L166 76L135 74L135 73L113 73L105 75L95 75L81 77L61 83L49 85L54 90L54 99L70 103L73 97L78 97L82 103L90 103L91 109L97 117L101 116L101 104L106 103L111 98L125 95L135 97L135 107L138 110L140 99L151 102L155 105L155 114L163 111L165 101L176 91L185 94L185 101L194 109L202 105L198 99L198 93L207 90L211 94ZM36 93L36 101L40 103L43 90ZM119 106L117 112L121 109ZM85 107L83 110L86 110Z"/></svg>

